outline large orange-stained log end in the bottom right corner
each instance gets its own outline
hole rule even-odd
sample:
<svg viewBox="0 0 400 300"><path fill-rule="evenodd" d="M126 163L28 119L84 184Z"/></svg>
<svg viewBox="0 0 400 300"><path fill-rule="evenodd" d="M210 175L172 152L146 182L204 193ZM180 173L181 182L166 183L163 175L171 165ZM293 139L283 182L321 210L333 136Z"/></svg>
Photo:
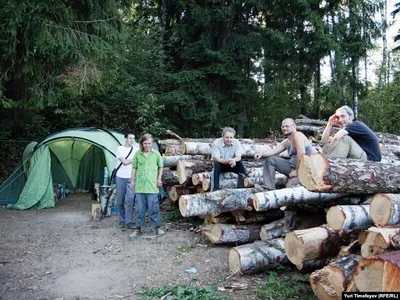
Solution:
<svg viewBox="0 0 400 300"><path fill-rule="evenodd" d="M361 258L353 276L360 292L400 291L400 251Z"/></svg>

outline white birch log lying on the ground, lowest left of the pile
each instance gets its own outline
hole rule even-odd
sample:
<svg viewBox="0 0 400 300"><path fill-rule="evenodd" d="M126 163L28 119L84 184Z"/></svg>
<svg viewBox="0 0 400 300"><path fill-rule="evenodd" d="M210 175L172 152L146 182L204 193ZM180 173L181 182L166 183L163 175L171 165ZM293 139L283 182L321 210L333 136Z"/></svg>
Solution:
<svg viewBox="0 0 400 300"><path fill-rule="evenodd" d="M229 251L229 270L231 273L250 274L288 264L283 248L283 239L256 241L233 247Z"/></svg>

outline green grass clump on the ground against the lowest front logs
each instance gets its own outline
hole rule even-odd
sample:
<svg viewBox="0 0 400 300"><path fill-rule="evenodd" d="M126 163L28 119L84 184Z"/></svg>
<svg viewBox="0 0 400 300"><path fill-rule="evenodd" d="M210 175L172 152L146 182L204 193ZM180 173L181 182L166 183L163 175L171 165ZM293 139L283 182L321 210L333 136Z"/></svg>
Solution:
<svg viewBox="0 0 400 300"><path fill-rule="evenodd" d="M269 272L268 282L257 291L260 299L315 299L308 280Z"/></svg>

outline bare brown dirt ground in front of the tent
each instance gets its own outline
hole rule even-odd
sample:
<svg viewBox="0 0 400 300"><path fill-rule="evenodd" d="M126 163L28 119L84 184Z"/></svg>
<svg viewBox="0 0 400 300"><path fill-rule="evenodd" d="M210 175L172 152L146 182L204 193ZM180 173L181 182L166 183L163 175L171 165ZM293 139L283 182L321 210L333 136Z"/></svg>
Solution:
<svg viewBox="0 0 400 300"><path fill-rule="evenodd" d="M143 236L117 228L117 217L90 221L89 194L72 194L54 209L12 211L0 207L0 299L141 299L144 287L173 284L229 286L230 299L258 299L267 273L227 279L229 246L214 246L193 224L166 223L156 237L149 221ZM165 214L165 212L163 212ZM184 271L196 268L196 274Z"/></svg>

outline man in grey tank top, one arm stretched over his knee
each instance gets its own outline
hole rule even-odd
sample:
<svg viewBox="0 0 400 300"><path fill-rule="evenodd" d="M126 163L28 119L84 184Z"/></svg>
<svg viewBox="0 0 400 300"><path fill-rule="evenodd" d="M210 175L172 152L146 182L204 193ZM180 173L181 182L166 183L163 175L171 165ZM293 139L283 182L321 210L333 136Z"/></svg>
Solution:
<svg viewBox="0 0 400 300"><path fill-rule="evenodd" d="M289 178L297 177L297 167L301 157L304 154L309 155L316 152L311 145L311 141L302 132L296 130L296 123L293 119L287 118L282 121L282 133L287 138L278 144L276 148L254 155L255 159L267 157L263 169L263 188L267 190L275 189L276 171ZM276 156L285 150L289 154L289 160Z"/></svg>

